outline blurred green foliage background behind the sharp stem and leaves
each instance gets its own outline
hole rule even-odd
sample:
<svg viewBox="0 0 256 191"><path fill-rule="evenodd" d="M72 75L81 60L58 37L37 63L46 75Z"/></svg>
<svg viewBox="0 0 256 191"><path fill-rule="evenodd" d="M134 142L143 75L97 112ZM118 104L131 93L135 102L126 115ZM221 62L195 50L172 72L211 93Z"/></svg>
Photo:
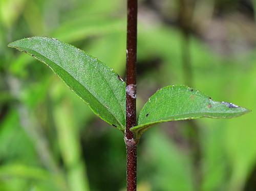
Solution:
<svg viewBox="0 0 256 191"><path fill-rule="evenodd" d="M138 190L256 190L256 1L141 0L138 17L138 109L171 84L252 109L146 131ZM7 47L54 37L124 79L125 30L124 0L0 0L1 191L125 190L122 133L48 67Z"/></svg>

